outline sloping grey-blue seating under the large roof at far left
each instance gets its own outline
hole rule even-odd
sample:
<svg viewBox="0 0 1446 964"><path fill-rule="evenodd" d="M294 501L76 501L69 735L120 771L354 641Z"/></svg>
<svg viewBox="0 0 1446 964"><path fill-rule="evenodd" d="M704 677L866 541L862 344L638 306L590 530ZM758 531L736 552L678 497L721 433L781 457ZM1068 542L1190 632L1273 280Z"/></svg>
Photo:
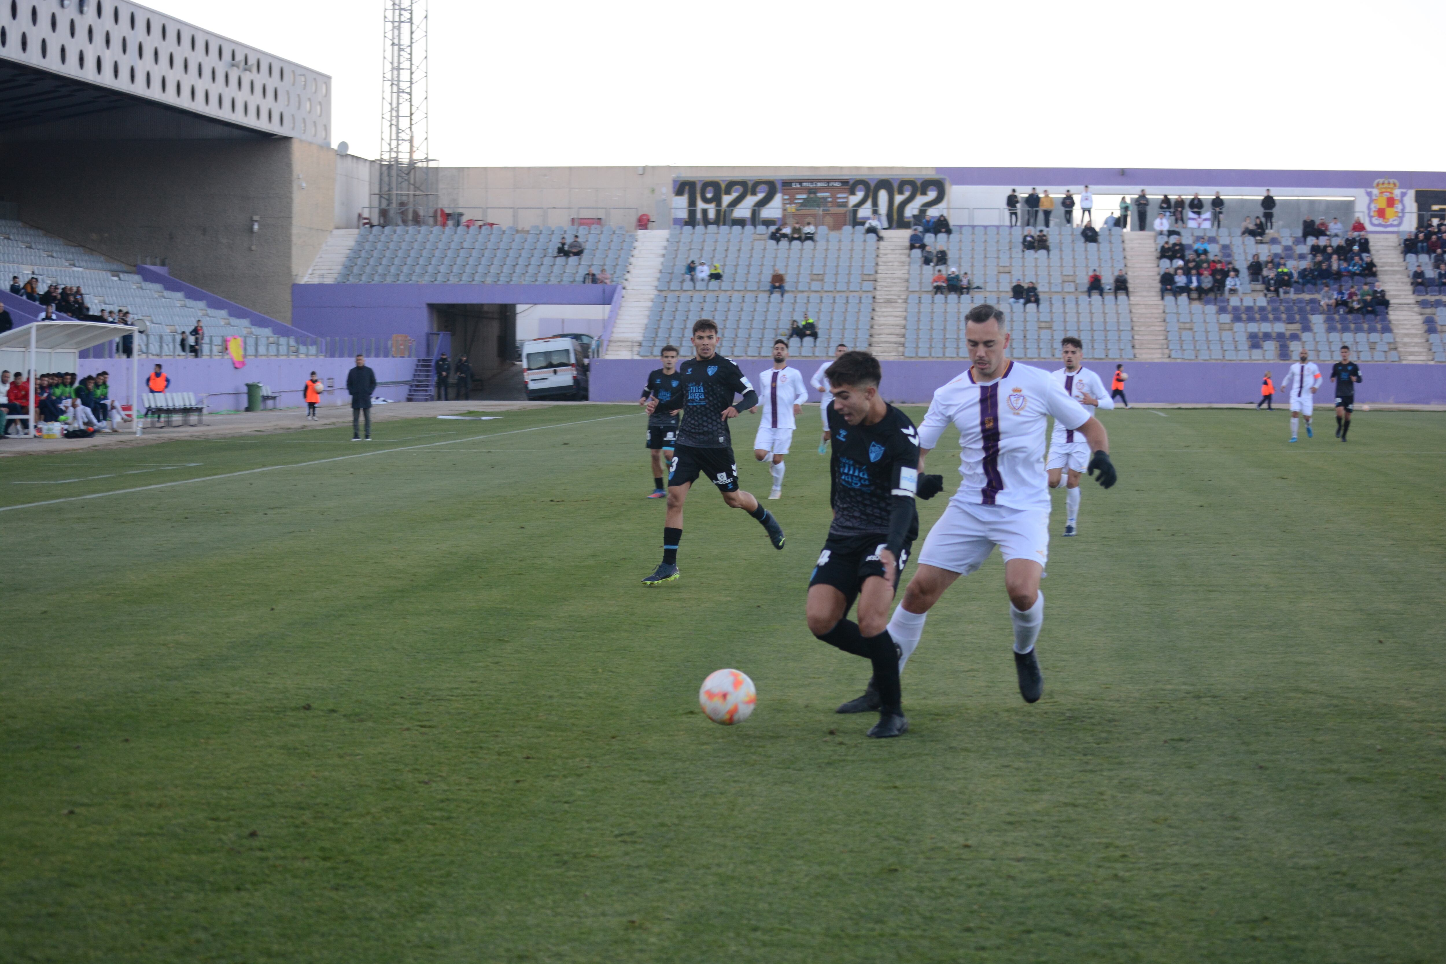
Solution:
<svg viewBox="0 0 1446 964"><path fill-rule="evenodd" d="M137 325L136 348L143 356L179 356L181 337L197 321L202 322L202 354L220 356L228 335L243 338L247 357L291 357L315 354L315 345L270 328L253 325L249 318L233 318L226 309L210 308L204 301L166 291L146 282L119 262L68 244L20 221L0 221L0 273L19 276L22 283L36 279L45 291L51 285L78 288L87 314L81 318L110 318L111 312L129 315Z"/></svg>

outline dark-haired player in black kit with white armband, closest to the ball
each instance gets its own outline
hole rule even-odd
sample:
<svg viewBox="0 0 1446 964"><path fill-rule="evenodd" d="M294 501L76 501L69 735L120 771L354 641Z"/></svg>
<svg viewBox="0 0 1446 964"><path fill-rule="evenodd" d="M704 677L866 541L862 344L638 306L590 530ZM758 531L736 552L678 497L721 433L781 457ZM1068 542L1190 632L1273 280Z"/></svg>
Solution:
<svg viewBox="0 0 1446 964"><path fill-rule="evenodd" d="M833 393L826 409L833 458L833 525L808 580L808 632L873 663L873 679L840 713L878 710L870 737L908 733L899 692L899 647L889 636L889 603L918 536L918 434L879 395L879 361L846 351L824 371ZM855 600L859 621L847 619ZM855 705L857 704L857 705Z"/></svg>

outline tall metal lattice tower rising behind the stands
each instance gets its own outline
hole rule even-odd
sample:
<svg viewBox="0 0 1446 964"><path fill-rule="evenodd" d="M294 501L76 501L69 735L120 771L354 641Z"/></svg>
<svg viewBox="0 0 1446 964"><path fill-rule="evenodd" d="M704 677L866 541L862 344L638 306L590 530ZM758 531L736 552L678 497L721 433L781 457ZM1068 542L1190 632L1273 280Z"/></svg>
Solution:
<svg viewBox="0 0 1446 964"><path fill-rule="evenodd" d="M427 146L427 0L386 0L380 224L431 224L437 171Z"/></svg>

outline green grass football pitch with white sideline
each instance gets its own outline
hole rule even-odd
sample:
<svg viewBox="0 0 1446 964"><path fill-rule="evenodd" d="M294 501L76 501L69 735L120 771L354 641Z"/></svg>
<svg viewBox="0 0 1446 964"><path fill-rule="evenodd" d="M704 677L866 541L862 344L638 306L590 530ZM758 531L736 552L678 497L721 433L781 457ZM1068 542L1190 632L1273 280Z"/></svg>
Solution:
<svg viewBox="0 0 1446 964"><path fill-rule="evenodd" d="M996 555L891 741L804 626L807 415L785 551L698 489L656 590L617 406L0 460L0 506L246 473L0 512L0 960L1446 960L1446 416L1322 415L1105 413L1044 700Z"/></svg>

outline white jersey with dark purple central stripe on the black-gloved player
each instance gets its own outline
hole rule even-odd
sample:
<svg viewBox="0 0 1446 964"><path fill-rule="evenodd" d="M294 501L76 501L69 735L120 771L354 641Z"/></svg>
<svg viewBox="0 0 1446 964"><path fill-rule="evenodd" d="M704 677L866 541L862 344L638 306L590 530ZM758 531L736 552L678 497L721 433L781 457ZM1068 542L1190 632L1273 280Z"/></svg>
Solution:
<svg viewBox="0 0 1446 964"><path fill-rule="evenodd" d="M1090 419L1084 406L1064 395L1043 369L1009 361L1002 376L979 384L970 367L934 392L918 428L918 445L934 448L953 422L963 481L951 502L1048 512L1044 429L1050 416L1067 429Z"/></svg>

